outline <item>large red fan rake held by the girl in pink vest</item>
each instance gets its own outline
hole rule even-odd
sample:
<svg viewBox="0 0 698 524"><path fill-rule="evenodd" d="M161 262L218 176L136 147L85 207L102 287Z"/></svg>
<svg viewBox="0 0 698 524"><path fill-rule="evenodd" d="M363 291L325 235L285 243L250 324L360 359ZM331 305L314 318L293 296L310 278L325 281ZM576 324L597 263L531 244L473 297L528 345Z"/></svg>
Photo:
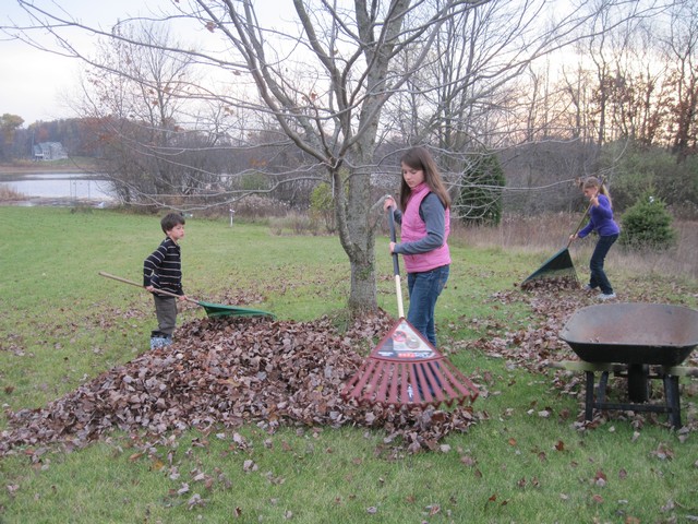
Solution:
<svg viewBox="0 0 698 524"><path fill-rule="evenodd" d="M392 207L388 218L395 241ZM477 386L405 319L397 253L393 253L393 269L400 318L345 384L341 396L383 406L436 407L474 402Z"/></svg>

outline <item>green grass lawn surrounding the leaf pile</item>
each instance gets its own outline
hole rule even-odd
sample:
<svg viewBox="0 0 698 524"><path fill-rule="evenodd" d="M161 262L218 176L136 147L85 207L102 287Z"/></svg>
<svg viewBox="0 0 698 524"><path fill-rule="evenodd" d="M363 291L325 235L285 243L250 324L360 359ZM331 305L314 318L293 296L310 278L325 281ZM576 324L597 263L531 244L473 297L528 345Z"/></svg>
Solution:
<svg viewBox="0 0 698 524"><path fill-rule="evenodd" d="M37 408L148 350L155 326L141 281L157 216L0 207L0 401ZM392 259L377 239L380 306L397 317ZM526 326L526 300L500 301L542 261L452 242L437 331L452 360L483 378L479 421L434 452L394 453L381 430L284 427L182 430L167 443L115 431L80 451L0 457L0 523L646 523L698 519L696 380L682 379L687 430L614 419L575 425L578 398L469 342ZM184 288L195 298L305 321L340 312L349 264L333 237L274 236L238 221L188 219ZM543 253L543 259L544 259ZM695 307L698 284L617 269L636 296ZM494 297L494 298L493 298ZM180 323L204 317L188 307ZM543 416L541 413L552 413ZM0 430L7 416L0 416Z"/></svg>

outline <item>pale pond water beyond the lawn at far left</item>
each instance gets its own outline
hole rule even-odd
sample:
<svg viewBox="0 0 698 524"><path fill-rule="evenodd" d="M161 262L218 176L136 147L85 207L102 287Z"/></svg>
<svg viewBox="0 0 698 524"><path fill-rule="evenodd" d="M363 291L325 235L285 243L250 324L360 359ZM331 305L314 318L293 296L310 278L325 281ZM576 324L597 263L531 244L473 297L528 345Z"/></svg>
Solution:
<svg viewBox="0 0 698 524"><path fill-rule="evenodd" d="M87 178L82 172L26 175L17 177L16 180L0 179L0 186L27 198L113 200L109 192L109 182Z"/></svg>

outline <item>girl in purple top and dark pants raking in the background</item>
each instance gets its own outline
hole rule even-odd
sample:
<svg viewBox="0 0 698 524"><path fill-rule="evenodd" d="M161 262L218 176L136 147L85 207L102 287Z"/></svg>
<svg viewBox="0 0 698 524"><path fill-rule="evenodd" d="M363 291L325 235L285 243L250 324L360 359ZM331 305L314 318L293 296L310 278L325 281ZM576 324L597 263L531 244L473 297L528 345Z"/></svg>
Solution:
<svg viewBox="0 0 698 524"><path fill-rule="evenodd" d="M609 277L603 271L603 262L606 254L611 249L611 246L618 239L621 228L613 219L613 207L611 204L611 195L605 184L601 183L598 178L589 177L582 184L582 191L585 196L589 199L589 224L583 227L578 234L571 235L570 240L576 238L585 238L591 231L597 231L599 240L597 240L597 247L591 255L589 262L589 270L591 276L589 284L585 286L585 289L591 291L600 288L601 294L599 298L601 300L609 300L615 298L613 287L609 282Z"/></svg>

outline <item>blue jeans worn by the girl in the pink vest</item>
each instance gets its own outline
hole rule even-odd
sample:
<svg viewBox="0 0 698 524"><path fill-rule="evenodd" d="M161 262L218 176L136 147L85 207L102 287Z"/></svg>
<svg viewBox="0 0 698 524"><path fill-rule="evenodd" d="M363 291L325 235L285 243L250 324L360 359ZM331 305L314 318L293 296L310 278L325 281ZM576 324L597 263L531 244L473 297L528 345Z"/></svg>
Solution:
<svg viewBox="0 0 698 524"><path fill-rule="evenodd" d="M442 265L422 273L407 274L407 288L410 295L410 308L407 321L436 347L436 327L434 309L436 299L448 281L449 266Z"/></svg>

